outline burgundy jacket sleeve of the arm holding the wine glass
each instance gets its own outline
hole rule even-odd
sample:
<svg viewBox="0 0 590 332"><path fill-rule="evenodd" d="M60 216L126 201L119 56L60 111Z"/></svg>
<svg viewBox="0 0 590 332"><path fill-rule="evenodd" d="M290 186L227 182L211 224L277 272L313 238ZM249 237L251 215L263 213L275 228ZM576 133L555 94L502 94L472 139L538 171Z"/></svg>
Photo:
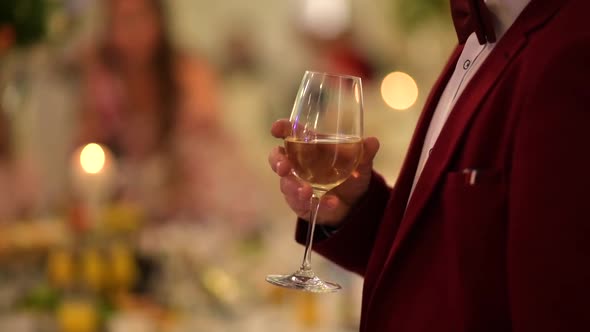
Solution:
<svg viewBox="0 0 590 332"><path fill-rule="evenodd" d="M316 226L313 249L343 268L364 276L390 191L385 180L373 172L367 193L352 208L342 226L331 234L320 225ZM307 229L307 221L297 221L297 242L305 243Z"/></svg>

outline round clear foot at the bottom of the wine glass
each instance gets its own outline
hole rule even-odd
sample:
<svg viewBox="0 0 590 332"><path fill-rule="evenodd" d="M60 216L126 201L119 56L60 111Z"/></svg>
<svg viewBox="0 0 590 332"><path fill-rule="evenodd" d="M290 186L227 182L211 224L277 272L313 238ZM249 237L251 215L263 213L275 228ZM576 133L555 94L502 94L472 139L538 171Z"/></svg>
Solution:
<svg viewBox="0 0 590 332"><path fill-rule="evenodd" d="M312 293L334 293L342 289L338 284L322 281L311 271L299 270L293 274L271 274L266 276L269 283L294 290Z"/></svg>

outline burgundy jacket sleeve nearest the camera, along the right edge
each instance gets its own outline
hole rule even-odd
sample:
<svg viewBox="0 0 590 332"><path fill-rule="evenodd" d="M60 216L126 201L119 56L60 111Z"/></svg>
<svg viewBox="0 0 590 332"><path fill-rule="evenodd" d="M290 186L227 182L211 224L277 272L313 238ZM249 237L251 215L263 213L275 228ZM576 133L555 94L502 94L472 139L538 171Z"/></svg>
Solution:
<svg viewBox="0 0 590 332"><path fill-rule="evenodd" d="M590 43L547 61L515 130L508 289L514 332L590 331Z"/></svg>

